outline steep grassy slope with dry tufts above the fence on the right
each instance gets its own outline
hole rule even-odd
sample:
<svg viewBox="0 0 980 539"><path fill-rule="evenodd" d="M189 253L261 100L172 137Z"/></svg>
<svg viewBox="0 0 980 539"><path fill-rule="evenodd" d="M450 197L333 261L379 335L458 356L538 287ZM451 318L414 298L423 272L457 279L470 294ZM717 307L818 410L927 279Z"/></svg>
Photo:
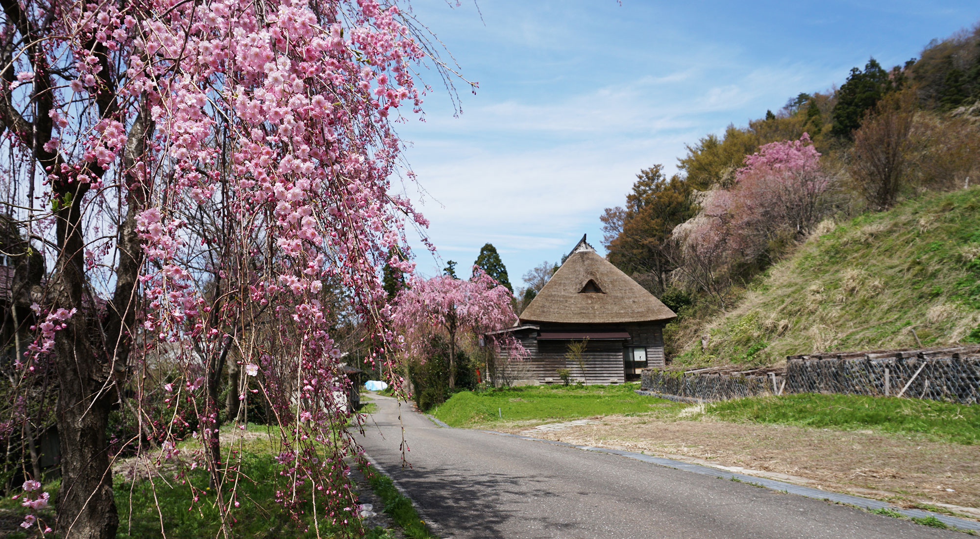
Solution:
<svg viewBox="0 0 980 539"><path fill-rule="evenodd" d="M980 337L980 187L933 193L811 237L714 319L678 366L772 365L786 356Z"/></svg>

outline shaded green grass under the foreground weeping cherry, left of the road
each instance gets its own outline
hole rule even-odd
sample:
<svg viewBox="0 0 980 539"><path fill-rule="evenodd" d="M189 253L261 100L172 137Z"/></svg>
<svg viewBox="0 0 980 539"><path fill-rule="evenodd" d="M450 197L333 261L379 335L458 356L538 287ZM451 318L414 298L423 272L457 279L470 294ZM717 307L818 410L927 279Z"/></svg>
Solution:
<svg viewBox="0 0 980 539"><path fill-rule="evenodd" d="M366 407L367 408L367 407ZM233 445L222 444L222 452L236 463L239 463L235 494L232 498L228 491L232 488L231 475L225 483L225 503L237 501L238 507L229 510L233 519L230 531L234 537L297 537L314 538L318 536L314 524L313 505L310 502L298 504L298 512L290 514L283 503L276 502L277 498L291 498L290 477L281 473L282 466L276 464L270 437L269 427L250 423L248 431L241 441ZM222 429L224 431L225 429ZM233 429L227 428L230 432ZM223 434L222 434L223 437ZM194 441L182 442L178 445L187 452L199 448ZM233 451L234 453L228 453ZM240 458L240 461L238 460ZM149 539L163 537L161 521L166 529L166 536L173 539L197 539L199 537L220 537L221 515L216 504L216 496L208 488L208 473L203 466L190 468L190 463L181 466L165 462L164 469L155 474L152 481L140 478L135 481L127 480L122 474L114 476L114 492L116 507L119 510L120 527L117 537ZM153 465L150 465L151 467ZM135 471L143 475L145 469L134 464ZM174 474L182 474L174 477ZM374 511L384 512L392 517L398 526L404 526L404 535L411 539L434 539L427 533L424 524L420 523L412 502L401 496L391 487L391 480L373 468L367 474L372 490L384 501L384 508L374 508ZM387 485L387 486L386 486ZM60 480L47 482L43 490L51 494L52 502L57 498ZM389 492L390 490L390 492ZM297 489L300 499L310 499L310 485L300 485ZM392 494L394 493L394 494ZM325 494L323 494L325 496ZM357 519L334 524L331 518L323 514L322 500L318 493L319 536L335 537L366 537L368 539L392 539L395 537L390 530L383 527L363 527ZM6 499L0 502L0 511L9 515L25 515L20 507L20 500ZM5 515L6 516L6 515ZM54 508L42 512L45 523L54 523ZM297 517L298 516L298 517ZM343 518L343 517L342 517ZM14 524L16 526L16 524ZM421 530L421 531L419 531ZM9 532L4 535L3 531ZM33 536L36 528L23 530L0 530L0 535L11 539Z"/></svg>

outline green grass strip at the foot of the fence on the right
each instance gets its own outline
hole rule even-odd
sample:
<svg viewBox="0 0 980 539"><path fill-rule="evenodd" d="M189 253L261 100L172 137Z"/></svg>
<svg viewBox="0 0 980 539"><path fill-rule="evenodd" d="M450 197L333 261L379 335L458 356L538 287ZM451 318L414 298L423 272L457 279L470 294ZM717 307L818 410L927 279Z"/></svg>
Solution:
<svg viewBox="0 0 980 539"><path fill-rule="evenodd" d="M980 406L859 395L785 395L711 403L726 421L781 423L840 430L872 429L958 444L980 442Z"/></svg>

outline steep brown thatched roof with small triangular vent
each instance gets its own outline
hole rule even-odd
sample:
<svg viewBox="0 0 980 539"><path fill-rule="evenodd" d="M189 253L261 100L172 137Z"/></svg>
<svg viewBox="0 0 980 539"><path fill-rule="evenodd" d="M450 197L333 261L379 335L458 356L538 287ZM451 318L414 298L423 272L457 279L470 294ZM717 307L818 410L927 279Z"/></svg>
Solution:
<svg viewBox="0 0 980 539"><path fill-rule="evenodd" d="M520 323L615 323L676 317L661 300L596 254L582 236L562 267L520 314Z"/></svg>

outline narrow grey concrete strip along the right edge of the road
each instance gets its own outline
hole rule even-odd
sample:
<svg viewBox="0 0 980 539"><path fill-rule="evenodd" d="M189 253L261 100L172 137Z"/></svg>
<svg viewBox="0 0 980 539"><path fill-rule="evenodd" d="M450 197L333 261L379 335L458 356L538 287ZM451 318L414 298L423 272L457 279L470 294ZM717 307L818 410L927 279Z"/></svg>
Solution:
<svg viewBox="0 0 980 539"><path fill-rule="evenodd" d="M653 465L672 467L674 469L682 469L684 471L692 471L694 473L700 473L702 475L711 475L713 477L720 477L723 479L736 479L744 483L750 483L753 485L765 487L772 490L777 490L780 492L786 492L788 494L796 494L797 496L806 496L807 498L814 498L816 500L824 500L827 502L834 502L837 504L847 504L851 506L856 506L861 509L868 511L874 511L877 509L888 509L905 515L908 517L922 518L928 516L935 516L936 519L945 523L948 526L960 529L960 530L971 530L980 532L980 522L976 520L967 520L966 518L959 518L956 516L943 515L941 513L932 513L929 511L922 511L918 509L902 509L888 502L880 502L878 500L871 500L869 498L861 498L859 496L853 496L851 494L840 494L837 492L828 492L825 490L820 490L812 487L805 487L801 485L796 485L793 483L787 483L784 481L778 481L776 479L767 479L765 477L759 477L756 475L748 475L746 473L737 473L732 471L726 471L723 469L714 468L711 466L701 466L691 463L684 463L681 461L674 461L673 459L664 459L662 457L653 457L651 455L643 455L641 453L633 453L632 451L620 451L618 449L606 449L602 447L591 447L591 446L580 446L575 444L569 444L567 442L558 442L555 440L545 440L542 438L532 438L530 436L523 436L520 434L509 434L507 432L498 432L496 430L480 430L480 432L486 432L488 434L497 434L499 436L509 436L512 438L520 438L523 440L531 440L535 442L544 442L546 444L570 447L574 449L581 449L583 451L594 451L596 453L607 453L609 455L616 455L618 457L625 457L627 459L633 459L636 461L643 461L644 463L650 463Z"/></svg>

